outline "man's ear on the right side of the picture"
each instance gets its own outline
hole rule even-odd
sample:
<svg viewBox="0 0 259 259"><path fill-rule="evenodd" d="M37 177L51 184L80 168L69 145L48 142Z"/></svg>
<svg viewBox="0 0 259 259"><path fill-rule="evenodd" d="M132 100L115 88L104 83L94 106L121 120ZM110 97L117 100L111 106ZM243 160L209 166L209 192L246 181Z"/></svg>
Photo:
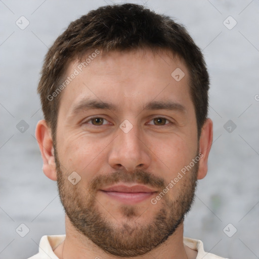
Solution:
<svg viewBox="0 0 259 259"><path fill-rule="evenodd" d="M200 161L197 179L203 179L208 171L208 154L212 145L213 139L213 123L212 120L207 118L201 129L199 140L200 145Z"/></svg>

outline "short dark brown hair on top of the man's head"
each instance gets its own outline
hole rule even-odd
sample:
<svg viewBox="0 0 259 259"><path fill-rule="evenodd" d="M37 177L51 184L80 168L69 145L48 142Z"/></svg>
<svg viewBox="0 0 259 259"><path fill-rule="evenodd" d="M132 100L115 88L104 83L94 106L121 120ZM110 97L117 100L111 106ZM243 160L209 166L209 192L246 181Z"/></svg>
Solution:
<svg viewBox="0 0 259 259"><path fill-rule="evenodd" d="M37 92L44 117L55 141L61 94L49 100L62 83L72 59L95 49L126 51L169 50L185 61L190 75L190 94L195 106L198 138L207 117L209 77L200 49L181 24L137 4L100 7L71 22L49 49Z"/></svg>

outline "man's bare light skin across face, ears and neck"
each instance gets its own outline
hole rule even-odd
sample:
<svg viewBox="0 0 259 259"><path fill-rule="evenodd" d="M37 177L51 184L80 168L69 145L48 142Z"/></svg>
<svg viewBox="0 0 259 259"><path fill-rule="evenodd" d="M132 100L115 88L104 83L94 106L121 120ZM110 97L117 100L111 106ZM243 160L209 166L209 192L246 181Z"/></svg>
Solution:
<svg viewBox="0 0 259 259"><path fill-rule="evenodd" d="M70 75L79 63L78 60L72 61L66 74ZM176 68L185 72L179 82L171 77ZM116 51L97 56L62 91L56 145L64 174L69 176L73 171L78 172L81 177L78 185L87 187L97 176L121 169L130 174L141 168L168 184L184 166L190 164L198 150L203 156L199 161L197 179L204 178L212 144L212 121L206 119L198 140L188 82L184 62L172 59L165 51L157 54L149 50ZM85 98L111 102L118 110L84 109L73 114L73 107ZM181 104L184 111L143 110L150 101L172 101ZM104 118L104 124L94 125L90 120L92 117ZM154 119L161 117L167 119L164 125L156 124ZM128 133L119 128L125 119L133 125ZM53 139L45 120L38 122L35 135L44 161L42 169L48 178L57 181ZM167 199L174 202L183 195L184 183L180 180L167 193ZM163 200L156 205L152 205L150 199L141 201L135 206L136 216L130 218L122 213L119 201L101 192L96 194L96 200L96 206L104 217L121 228L125 222L133 227L136 220L141 226L151 223L163 204ZM115 258L76 231L67 215L65 222L66 239L54 251L59 258L85 258L85 255L89 258L97 255ZM197 255L183 244L183 222L151 253L157 259L190 259ZM150 258L150 254L143 254L141 258Z"/></svg>

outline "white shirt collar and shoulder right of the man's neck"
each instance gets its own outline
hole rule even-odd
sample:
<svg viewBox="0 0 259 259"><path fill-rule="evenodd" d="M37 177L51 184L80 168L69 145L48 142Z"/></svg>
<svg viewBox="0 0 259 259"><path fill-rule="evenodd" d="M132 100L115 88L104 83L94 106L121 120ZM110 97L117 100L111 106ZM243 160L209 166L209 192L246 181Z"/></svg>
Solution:
<svg viewBox="0 0 259 259"><path fill-rule="evenodd" d="M215 255L213 253L205 252L201 240L184 237L184 244L190 247L191 249L198 251L196 259L228 259Z"/></svg>

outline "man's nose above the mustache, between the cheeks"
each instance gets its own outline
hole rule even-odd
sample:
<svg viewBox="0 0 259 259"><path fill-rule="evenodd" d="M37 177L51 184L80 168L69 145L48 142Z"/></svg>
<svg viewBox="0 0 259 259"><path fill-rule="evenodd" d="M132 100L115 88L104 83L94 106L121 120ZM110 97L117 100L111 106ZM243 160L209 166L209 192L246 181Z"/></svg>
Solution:
<svg viewBox="0 0 259 259"><path fill-rule="evenodd" d="M137 126L125 133L118 128L109 152L109 164L114 169L124 167L127 171L147 169L151 162L151 151Z"/></svg>

